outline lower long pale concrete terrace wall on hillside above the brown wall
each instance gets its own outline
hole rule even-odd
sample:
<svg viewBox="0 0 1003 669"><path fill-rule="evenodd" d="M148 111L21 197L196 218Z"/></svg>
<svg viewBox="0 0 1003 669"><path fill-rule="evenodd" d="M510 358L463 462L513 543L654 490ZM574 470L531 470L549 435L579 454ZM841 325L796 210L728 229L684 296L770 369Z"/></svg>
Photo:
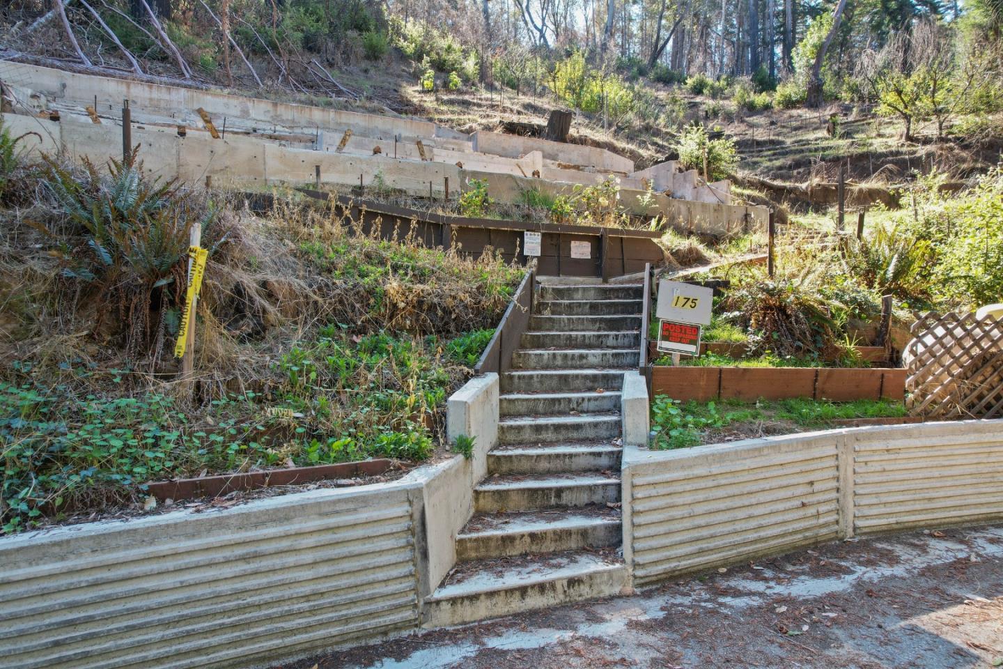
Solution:
<svg viewBox="0 0 1003 669"><path fill-rule="evenodd" d="M24 139L22 145L29 151L52 153L65 148L74 158L86 156L99 165L108 157L120 155L121 127L117 125L75 118L56 122L10 113L3 114L3 119L14 136L29 131L37 133ZM504 203L522 202L523 194L531 190L553 196L575 193L575 185L569 183L460 169L449 162L394 158L388 151L361 155L294 148L242 134L213 139L203 131L180 136L172 128L136 125L132 128L132 141L139 145L139 157L147 174L166 179L177 177L189 183L201 183L211 176L218 187L313 185L315 165L320 165L322 185L354 187L359 185L361 177L362 183L370 186L378 177L387 186L413 196L427 196L430 191L436 198L444 197L447 178L451 197L456 197L462 185L474 179L485 181L490 197ZM532 164L534 156L524 159ZM696 234L761 231L765 230L768 218L761 207L683 202L664 195L655 195L655 204L645 207L641 204L646 197L644 191L624 188L620 195L621 203L631 212L662 214L670 225Z"/></svg>

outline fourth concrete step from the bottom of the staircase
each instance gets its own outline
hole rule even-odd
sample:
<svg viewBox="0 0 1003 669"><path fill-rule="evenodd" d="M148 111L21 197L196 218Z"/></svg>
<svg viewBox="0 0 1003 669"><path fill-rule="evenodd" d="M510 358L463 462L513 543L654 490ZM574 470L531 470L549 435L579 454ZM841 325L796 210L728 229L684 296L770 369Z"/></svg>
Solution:
<svg viewBox="0 0 1003 669"><path fill-rule="evenodd" d="M503 445L487 453L492 474L619 471L623 449L614 441Z"/></svg>

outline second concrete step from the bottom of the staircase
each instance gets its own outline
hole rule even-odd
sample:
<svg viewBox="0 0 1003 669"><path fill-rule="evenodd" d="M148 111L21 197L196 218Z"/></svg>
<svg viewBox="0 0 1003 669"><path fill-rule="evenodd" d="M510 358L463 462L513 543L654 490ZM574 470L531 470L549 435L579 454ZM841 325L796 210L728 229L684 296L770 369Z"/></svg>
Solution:
<svg viewBox="0 0 1003 669"><path fill-rule="evenodd" d="M474 516L456 536L456 560L619 546L622 533L620 513L606 507Z"/></svg>

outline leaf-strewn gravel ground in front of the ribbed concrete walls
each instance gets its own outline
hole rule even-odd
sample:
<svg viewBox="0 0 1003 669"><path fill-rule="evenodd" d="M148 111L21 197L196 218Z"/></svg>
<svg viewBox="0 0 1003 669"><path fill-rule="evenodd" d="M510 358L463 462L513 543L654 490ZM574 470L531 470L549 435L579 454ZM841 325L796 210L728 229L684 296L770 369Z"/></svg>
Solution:
<svg viewBox="0 0 1003 669"><path fill-rule="evenodd" d="M282 669L1003 667L1003 527L849 541ZM278 668L276 668L278 669Z"/></svg>

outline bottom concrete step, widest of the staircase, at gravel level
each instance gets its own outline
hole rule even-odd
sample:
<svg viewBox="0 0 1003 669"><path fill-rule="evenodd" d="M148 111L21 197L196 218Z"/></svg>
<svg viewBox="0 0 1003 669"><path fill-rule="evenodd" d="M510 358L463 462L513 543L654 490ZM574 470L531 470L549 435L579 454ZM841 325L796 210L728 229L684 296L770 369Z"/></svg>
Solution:
<svg viewBox="0 0 1003 669"><path fill-rule="evenodd" d="M627 585L627 568L615 558L581 551L532 559L505 559L461 565L425 600L426 628L477 620L617 595ZM459 571L459 570L457 570Z"/></svg>

